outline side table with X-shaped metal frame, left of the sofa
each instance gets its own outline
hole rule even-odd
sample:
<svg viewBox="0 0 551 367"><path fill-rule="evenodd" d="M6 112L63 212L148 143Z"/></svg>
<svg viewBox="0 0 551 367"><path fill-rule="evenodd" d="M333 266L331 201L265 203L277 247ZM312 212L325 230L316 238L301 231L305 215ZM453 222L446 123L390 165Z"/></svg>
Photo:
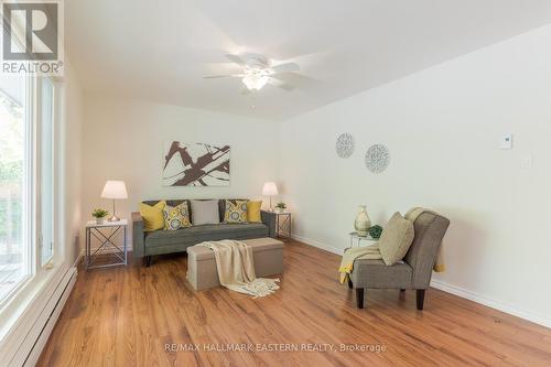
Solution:
<svg viewBox="0 0 551 367"><path fill-rule="evenodd" d="M86 223L86 253L84 266L86 269L107 268L120 265L127 265L127 219L117 222L106 220L102 224L97 224L96 220ZM109 231L108 231L109 230ZM122 248L115 242L117 235L123 231ZM91 239L96 238L99 241L99 247L91 248ZM100 255L112 255L116 262L95 265Z"/></svg>

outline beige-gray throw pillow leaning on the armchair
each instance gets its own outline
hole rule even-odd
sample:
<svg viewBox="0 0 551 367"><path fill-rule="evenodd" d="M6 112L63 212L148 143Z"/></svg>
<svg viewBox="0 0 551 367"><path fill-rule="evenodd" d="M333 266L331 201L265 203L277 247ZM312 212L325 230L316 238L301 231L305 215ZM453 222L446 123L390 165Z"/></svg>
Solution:
<svg viewBox="0 0 551 367"><path fill-rule="evenodd" d="M403 259L413 242L413 224L396 212L388 220L379 239L382 261L387 266L393 266Z"/></svg>

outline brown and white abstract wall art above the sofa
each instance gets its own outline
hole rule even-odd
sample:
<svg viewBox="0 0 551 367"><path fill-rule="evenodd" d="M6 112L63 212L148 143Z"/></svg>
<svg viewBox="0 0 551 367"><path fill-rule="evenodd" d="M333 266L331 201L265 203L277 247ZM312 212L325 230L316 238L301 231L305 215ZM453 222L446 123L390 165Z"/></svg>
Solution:
<svg viewBox="0 0 551 367"><path fill-rule="evenodd" d="M168 141L164 186L229 186L229 145Z"/></svg>

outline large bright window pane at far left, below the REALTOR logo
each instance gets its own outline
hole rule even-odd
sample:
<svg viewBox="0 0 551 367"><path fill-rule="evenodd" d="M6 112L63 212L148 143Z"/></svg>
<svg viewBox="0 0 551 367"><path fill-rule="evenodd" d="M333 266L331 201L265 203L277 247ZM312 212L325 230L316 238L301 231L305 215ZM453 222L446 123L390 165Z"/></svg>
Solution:
<svg viewBox="0 0 551 367"><path fill-rule="evenodd" d="M31 274L32 127L24 75L0 76L0 301Z"/></svg>

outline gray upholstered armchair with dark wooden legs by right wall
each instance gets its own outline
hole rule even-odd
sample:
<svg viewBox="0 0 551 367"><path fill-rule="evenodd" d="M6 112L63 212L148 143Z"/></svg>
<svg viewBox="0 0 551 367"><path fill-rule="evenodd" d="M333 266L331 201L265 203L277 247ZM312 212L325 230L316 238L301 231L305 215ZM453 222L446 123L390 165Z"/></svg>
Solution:
<svg viewBox="0 0 551 367"><path fill-rule="evenodd" d="M423 310L424 293L449 225L447 218L424 212L413 223L415 237L403 262L389 267L382 260L356 260L348 287L356 289L358 309L364 309L364 289L393 288L417 290L417 307Z"/></svg>

